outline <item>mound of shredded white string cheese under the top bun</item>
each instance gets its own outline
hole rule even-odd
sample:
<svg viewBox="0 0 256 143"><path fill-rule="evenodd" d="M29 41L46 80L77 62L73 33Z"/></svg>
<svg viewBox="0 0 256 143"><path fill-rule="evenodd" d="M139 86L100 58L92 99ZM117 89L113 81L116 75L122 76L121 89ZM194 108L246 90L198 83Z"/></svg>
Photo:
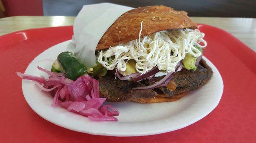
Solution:
<svg viewBox="0 0 256 143"><path fill-rule="evenodd" d="M141 31L142 22L140 34ZM126 62L134 59L139 73L144 74L156 66L159 70L170 73L175 71L175 66L184 59L186 53L194 57L201 56L202 53L195 46L207 46L203 39L204 33L198 29L172 29L144 37L140 37L140 34L139 39L110 47L105 51L100 50L96 55L98 62L108 70L113 70L117 65L117 70L124 72Z"/></svg>

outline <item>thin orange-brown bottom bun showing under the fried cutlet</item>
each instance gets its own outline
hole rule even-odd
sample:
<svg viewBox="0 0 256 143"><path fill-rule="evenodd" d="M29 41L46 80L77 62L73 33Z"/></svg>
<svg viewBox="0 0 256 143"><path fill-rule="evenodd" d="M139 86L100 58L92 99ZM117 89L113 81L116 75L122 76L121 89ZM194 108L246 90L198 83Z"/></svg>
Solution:
<svg viewBox="0 0 256 143"><path fill-rule="evenodd" d="M136 99L131 99L131 101L139 102L139 103L159 103L159 102L172 102L172 101L177 101L180 98L182 98L186 93L180 93L178 95L174 95L171 98L169 97L163 97L165 95L159 94L156 97L152 98L136 98ZM159 97L161 96L161 97Z"/></svg>

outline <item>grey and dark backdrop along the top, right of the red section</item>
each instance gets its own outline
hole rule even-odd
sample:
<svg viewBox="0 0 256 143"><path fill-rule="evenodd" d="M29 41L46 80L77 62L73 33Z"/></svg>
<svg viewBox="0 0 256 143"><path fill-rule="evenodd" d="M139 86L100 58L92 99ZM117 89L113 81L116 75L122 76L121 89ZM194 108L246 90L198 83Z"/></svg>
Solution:
<svg viewBox="0 0 256 143"><path fill-rule="evenodd" d="M131 7L165 5L200 17L256 17L256 0L43 0L44 15L78 14L82 5L110 2Z"/></svg>

